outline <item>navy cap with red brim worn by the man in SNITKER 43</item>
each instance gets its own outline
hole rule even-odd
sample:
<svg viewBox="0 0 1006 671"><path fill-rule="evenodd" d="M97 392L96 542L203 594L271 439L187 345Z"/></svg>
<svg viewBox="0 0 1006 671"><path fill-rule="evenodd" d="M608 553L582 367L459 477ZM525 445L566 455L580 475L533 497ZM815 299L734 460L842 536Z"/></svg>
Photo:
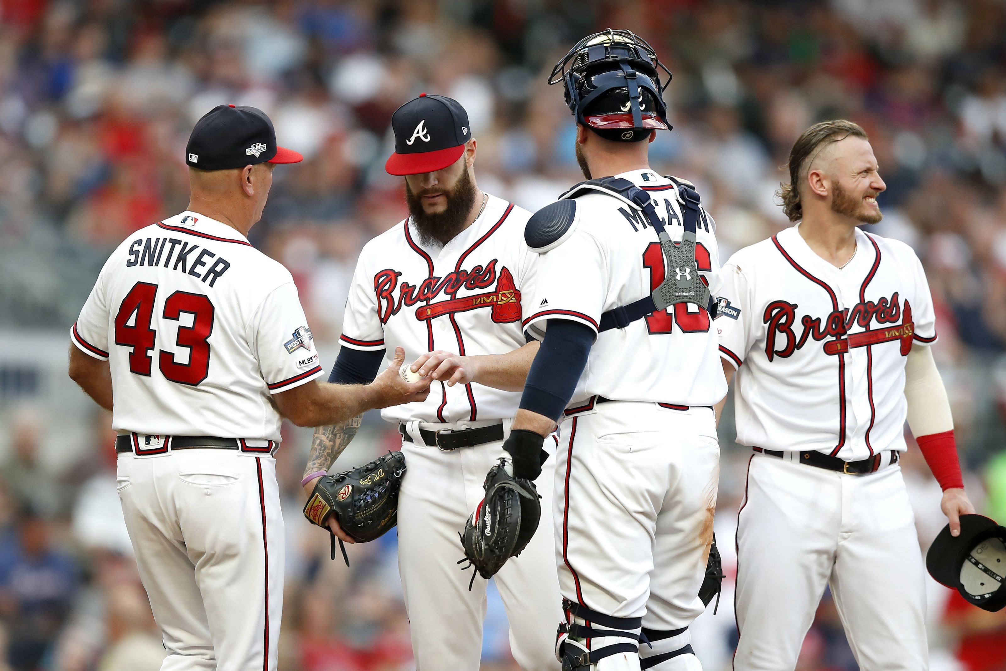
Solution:
<svg viewBox="0 0 1006 671"><path fill-rule="evenodd" d="M203 115L185 146L185 163L200 170L303 160L294 150L276 144L276 130L265 112L235 105L218 105Z"/></svg>

